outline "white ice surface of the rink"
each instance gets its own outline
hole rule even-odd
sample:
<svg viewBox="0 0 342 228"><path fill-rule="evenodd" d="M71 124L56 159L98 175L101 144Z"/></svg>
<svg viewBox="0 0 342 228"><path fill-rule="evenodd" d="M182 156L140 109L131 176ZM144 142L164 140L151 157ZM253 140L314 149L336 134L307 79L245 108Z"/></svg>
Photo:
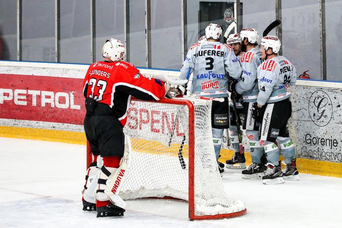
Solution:
<svg viewBox="0 0 342 228"><path fill-rule="evenodd" d="M185 203L135 200L124 217L83 212L85 146L0 138L0 227L342 227L342 179L300 174L298 182L263 185L223 176L230 198L241 199L243 216L187 220Z"/></svg>

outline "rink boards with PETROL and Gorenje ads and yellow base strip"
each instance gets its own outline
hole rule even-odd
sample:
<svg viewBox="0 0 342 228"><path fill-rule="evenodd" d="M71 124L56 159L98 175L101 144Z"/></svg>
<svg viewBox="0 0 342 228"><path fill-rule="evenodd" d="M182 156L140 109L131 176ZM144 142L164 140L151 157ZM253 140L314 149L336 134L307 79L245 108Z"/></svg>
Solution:
<svg viewBox="0 0 342 228"><path fill-rule="evenodd" d="M89 65L0 61L0 66L0 136L85 144L82 82ZM177 70L139 69L179 77ZM289 130L300 172L342 177L341 95L339 82L298 80L292 90ZM225 136L222 143L224 162L232 150Z"/></svg>

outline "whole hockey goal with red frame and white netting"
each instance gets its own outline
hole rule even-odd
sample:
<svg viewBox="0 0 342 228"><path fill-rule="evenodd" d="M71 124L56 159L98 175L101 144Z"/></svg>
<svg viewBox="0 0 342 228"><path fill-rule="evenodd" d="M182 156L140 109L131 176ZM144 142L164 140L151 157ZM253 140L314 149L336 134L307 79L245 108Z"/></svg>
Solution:
<svg viewBox="0 0 342 228"><path fill-rule="evenodd" d="M132 144L130 168L120 190L124 200L186 200L191 220L246 213L240 200L226 197L214 153L210 100L134 99L124 133ZM88 145L87 168L91 162Z"/></svg>

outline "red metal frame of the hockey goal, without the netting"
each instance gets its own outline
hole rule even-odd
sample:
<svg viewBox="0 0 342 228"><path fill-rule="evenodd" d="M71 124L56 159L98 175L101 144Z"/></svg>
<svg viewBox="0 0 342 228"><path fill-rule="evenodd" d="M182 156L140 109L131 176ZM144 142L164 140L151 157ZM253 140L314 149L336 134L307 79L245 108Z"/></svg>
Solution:
<svg viewBox="0 0 342 228"><path fill-rule="evenodd" d="M216 215L196 215L195 214L195 108L191 101L182 100L182 99L167 99L162 98L159 101L142 101L135 98L132 98L132 101L141 101L141 102L150 102L150 103L163 103L163 104L172 104L172 105L184 105L189 109L189 133L188 133L188 141L189 141L189 219L190 220L203 220L203 219L220 219L220 218L230 218L237 217L246 213L246 209L242 211L237 211L233 213L226 214L216 214ZM176 120L175 120L176 121ZM92 154L90 151L89 141L87 140L87 167L92 163ZM158 198L158 197L155 197ZM172 199L173 197L163 197L161 199ZM160 198L159 198L160 199ZM176 198L173 198L176 199ZM179 199L176 199L179 200Z"/></svg>

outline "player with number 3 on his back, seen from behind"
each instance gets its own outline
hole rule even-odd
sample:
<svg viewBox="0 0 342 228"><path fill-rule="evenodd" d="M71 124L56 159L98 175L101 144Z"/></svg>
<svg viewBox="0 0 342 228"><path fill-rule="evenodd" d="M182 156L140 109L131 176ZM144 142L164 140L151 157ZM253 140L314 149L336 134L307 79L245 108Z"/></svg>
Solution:
<svg viewBox="0 0 342 228"><path fill-rule="evenodd" d="M224 102L213 101L211 124L216 160L219 158L223 130L228 128L228 77L239 79L242 69L238 58L228 44L219 42L222 28L209 24L205 29L207 41L192 45L183 62L180 80L189 79L194 72L190 93L194 96L224 98ZM189 71L190 68L190 71ZM188 73L189 72L189 73ZM219 163L218 163L219 164ZM224 172L224 165L219 164Z"/></svg>

